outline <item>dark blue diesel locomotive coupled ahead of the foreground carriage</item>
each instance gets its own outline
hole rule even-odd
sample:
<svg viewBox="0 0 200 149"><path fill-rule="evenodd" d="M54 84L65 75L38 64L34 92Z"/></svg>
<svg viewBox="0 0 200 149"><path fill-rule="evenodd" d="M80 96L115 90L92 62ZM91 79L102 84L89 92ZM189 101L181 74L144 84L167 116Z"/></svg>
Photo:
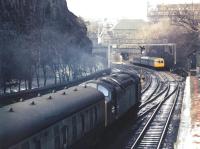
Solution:
<svg viewBox="0 0 200 149"><path fill-rule="evenodd" d="M136 74L119 72L86 84L104 94L106 127L125 113L137 110L135 107L140 103L141 86Z"/></svg>

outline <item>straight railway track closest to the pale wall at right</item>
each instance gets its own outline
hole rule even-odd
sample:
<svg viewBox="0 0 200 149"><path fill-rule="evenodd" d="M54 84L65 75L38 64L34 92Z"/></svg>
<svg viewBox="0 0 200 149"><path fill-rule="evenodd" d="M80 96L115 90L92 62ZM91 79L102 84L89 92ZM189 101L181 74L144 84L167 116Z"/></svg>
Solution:
<svg viewBox="0 0 200 149"><path fill-rule="evenodd" d="M127 149L157 149L162 145L162 141L167 132L173 110L179 97L179 85L171 85L170 91L165 94L165 98L156 107L148 111L149 115L143 120L142 127L130 139ZM135 137L137 135L137 137Z"/></svg>

